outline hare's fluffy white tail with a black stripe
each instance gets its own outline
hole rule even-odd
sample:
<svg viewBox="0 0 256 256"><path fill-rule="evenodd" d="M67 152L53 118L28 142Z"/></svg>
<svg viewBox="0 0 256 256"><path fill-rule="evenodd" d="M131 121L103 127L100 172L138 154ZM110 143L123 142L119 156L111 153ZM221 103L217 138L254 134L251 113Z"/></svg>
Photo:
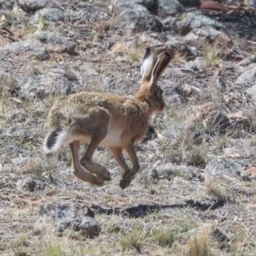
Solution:
<svg viewBox="0 0 256 256"><path fill-rule="evenodd" d="M55 130L49 132L49 134L44 139L44 152L46 154L53 153L61 148L61 144L67 137L67 131L63 131L60 127L55 128Z"/></svg>

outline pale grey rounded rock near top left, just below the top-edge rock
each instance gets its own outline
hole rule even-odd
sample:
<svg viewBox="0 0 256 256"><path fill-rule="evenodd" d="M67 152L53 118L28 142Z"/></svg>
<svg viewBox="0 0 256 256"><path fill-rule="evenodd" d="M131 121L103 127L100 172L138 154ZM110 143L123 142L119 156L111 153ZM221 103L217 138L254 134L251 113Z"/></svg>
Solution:
<svg viewBox="0 0 256 256"><path fill-rule="evenodd" d="M50 21L62 21L65 19L65 12L57 8L44 8L38 10L34 15L34 20L39 22L42 17Z"/></svg>

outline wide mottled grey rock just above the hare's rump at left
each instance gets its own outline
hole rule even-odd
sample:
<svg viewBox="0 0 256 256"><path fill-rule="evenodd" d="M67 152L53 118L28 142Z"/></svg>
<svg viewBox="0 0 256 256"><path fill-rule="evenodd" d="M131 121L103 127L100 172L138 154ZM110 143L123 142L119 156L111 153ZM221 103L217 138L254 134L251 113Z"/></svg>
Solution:
<svg viewBox="0 0 256 256"><path fill-rule="evenodd" d="M72 92L73 84L62 76L38 75L29 78L21 88L24 97L38 97L55 95L63 96Z"/></svg>

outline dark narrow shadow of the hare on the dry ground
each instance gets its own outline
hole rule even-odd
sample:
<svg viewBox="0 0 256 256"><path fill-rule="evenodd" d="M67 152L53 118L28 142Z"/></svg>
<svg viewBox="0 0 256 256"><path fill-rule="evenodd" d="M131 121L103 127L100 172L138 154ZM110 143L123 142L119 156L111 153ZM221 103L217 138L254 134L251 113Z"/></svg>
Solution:
<svg viewBox="0 0 256 256"><path fill-rule="evenodd" d="M218 201L211 203L201 203L199 201L184 201L183 204L173 204L173 205L144 205L140 204L137 205L137 207L128 207L124 210L121 210L119 207L113 207L113 208L107 208L104 209L100 206L92 205L90 206L91 210L98 214L107 214L107 215L122 215L127 216L129 218L139 218L144 217L148 214L160 212L161 209L167 209L167 208L185 208L185 207L191 207L195 208L197 210L201 211L207 211L207 210L215 210L218 207L223 207L225 201L222 199L219 199Z"/></svg>

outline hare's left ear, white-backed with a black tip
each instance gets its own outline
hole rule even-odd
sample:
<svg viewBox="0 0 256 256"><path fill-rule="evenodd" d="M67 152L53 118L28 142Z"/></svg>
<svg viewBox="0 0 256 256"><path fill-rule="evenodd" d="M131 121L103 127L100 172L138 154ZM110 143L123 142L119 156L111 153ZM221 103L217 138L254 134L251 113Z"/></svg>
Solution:
<svg viewBox="0 0 256 256"><path fill-rule="evenodd" d="M143 64L141 67L141 73L143 76L142 81L149 81L151 79L151 73L154 67L154 64L157 61L157 53L154 48L148 47L143 59Z"/></svg>

